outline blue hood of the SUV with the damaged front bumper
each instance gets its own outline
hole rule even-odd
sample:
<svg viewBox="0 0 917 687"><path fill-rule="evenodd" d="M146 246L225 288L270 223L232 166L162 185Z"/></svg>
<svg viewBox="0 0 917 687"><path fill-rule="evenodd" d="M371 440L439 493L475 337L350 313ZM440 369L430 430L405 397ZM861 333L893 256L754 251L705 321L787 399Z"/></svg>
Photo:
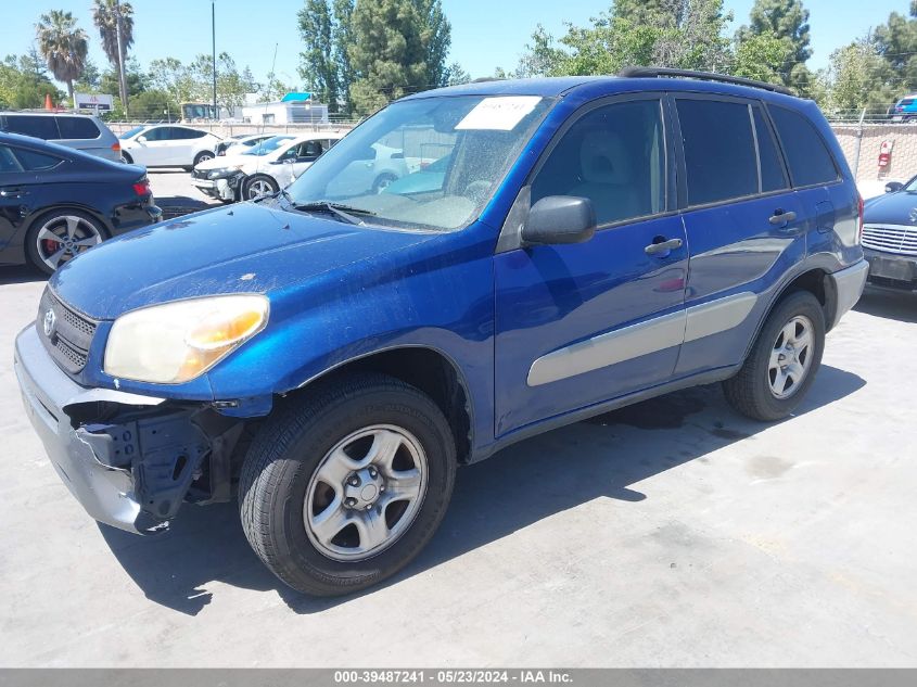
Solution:
<svg viewBox="0 0 917 687"><path fill-rule="evenodd" d="M242 203L132 231L66 263L49 283L86 315L114 319L179 298L269 295L436 236L347 225L273 203Z"/></svg>

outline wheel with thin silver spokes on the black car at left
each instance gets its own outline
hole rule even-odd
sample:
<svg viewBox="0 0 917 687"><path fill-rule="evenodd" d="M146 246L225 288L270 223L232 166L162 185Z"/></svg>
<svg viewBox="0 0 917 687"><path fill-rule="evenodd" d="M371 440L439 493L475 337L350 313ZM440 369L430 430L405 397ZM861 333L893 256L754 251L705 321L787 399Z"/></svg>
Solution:
<svg viewBox="0 0 917 687"><path fill-rule="evenodd" d="M75 209L58 209L33 222L26 236L26 250L31 263L51 275L104 239L105 229L94 217Z"/></svg>

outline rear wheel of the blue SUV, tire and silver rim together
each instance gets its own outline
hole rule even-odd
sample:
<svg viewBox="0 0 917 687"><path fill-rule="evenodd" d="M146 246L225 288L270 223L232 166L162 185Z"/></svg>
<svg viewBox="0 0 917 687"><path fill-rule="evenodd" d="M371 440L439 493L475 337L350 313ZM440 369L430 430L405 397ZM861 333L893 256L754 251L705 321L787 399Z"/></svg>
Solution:
<svg viewBox="0 0 917 687"><path fill-rule="evenodd" d="M815 381L825 349L825 314L807 291L778 303L744 365L723 382L729 404L762 421L789 416Z"/></svg>

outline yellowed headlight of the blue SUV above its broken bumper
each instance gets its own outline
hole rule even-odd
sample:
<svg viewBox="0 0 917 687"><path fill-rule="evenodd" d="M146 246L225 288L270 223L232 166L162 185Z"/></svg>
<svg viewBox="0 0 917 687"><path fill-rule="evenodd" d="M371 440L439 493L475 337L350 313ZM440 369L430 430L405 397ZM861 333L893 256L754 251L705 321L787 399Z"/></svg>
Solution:
<svg viewBox="0 0 917 687"><path fill-rule="evenodd" d="M267 325L265 296L176 301L122 315L105 344L112 377L177 384L202 374Z"/></svg>

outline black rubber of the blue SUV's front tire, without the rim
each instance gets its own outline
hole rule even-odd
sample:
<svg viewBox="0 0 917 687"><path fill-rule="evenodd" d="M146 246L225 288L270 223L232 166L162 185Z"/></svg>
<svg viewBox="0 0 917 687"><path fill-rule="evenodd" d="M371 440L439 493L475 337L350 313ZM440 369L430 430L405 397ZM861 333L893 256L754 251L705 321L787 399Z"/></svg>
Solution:
<svg viewBox="0 0 917 687"><path fill-rule="evenodd" d="M307 489L335 445L379 424L417 437L425 451L425 493L387 548L362 560L334 560L306 532ZM455 471L449 424L422 392L377 373L319 382L308 395L276 408L258 430L239 482L242 527L262 561L293 589L315 596L349 594L395 574L423 549L446 512Z"/></svg>

